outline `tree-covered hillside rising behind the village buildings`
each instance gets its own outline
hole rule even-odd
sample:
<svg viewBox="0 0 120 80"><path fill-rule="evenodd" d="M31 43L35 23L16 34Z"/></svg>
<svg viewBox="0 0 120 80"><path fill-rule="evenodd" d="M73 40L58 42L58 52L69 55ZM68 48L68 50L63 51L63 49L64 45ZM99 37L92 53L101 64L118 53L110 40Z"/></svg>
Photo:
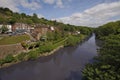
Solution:
<svg viewBox="0 0 120 80"><path fill-rule="evenodd" d="M25 23L28 25L49 25L57 27L60 31L64 32L75 32L80 31L83 34L89 34L92 30L86 26L74 26L69 24L63 24L57 21L47 20L45 18L38 18L36 13L32 16L26 15L25 13L17 13L11 11L9 8L0 8L0 24L15 24L15 23Z"/></svg>

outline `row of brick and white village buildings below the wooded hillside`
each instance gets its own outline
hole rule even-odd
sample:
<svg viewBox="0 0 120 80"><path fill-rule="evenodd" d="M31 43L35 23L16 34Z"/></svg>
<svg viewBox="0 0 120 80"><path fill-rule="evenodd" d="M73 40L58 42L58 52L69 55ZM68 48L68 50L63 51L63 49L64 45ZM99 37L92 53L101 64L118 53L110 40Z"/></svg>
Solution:
<svg viewBox="0 0 120 80"><path fill-rule="evenodd" d="M46 35L47 32L55 31L55 27L49 25L28 25L25 23L15 23L13 25L0 25L0 28L5 26L8 30L5 32L10 36L27 34L30 36L31 41L40 40L42 35ZM0 30L2 34L2 31Z"/></svg>

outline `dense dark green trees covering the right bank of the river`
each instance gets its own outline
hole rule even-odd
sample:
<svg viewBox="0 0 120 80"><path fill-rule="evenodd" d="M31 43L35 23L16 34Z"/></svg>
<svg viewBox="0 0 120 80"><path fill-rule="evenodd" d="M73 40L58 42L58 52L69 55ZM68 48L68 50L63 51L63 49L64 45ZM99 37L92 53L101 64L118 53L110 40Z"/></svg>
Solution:
<svg viewBox="0 0 120 80"><path fill-rule="evenodd" d="M95 62L83 70L83 80L120 79L120 21L110 22L95 30L96 38L103 44Z"/></svg>

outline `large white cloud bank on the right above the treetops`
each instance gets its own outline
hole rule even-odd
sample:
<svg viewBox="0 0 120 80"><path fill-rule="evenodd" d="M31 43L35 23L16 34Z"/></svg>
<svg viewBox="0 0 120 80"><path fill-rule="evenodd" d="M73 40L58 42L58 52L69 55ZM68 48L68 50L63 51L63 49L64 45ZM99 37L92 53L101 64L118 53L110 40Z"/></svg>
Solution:
<svg viewBox="0 0 120 80"><path fill-rule="evenodd" d="M114 17L117 16L120 16L119 1L98 4L90 9L83 11L82 13L74 13L71 16L59 18L57 21L73 25L96 27L105 24L106 22L114 21Z"/></svg>

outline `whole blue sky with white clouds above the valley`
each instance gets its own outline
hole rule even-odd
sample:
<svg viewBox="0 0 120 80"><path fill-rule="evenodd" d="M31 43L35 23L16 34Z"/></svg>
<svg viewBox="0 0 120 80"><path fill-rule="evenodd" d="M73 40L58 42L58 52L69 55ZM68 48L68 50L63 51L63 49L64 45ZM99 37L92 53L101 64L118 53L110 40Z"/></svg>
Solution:
<svg viewBox="0 0 120 80"><path fill-rule="evenodd" d="M77 26L120 20L120 0L0 0L0 7Z"/></svg>

